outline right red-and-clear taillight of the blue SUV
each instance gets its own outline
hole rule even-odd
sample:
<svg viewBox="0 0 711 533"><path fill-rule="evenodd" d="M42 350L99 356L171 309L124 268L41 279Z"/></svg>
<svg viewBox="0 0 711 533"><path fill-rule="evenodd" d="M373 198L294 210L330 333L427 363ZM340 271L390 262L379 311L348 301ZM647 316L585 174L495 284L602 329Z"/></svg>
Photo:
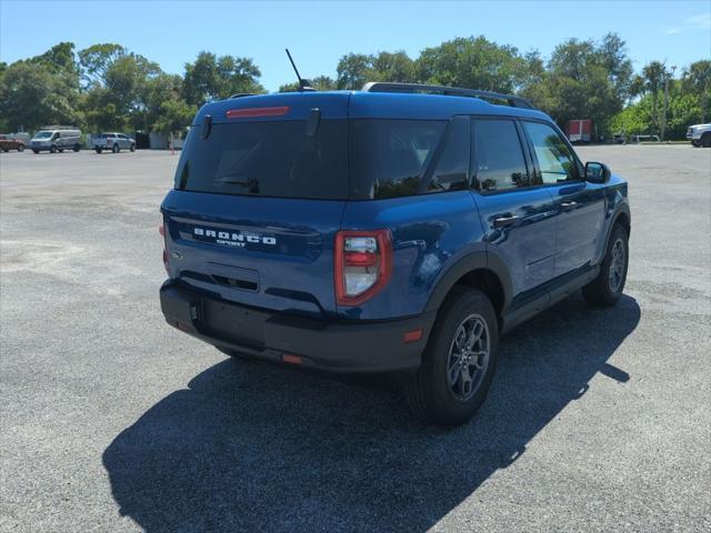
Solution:
<svg viewBox="0 0 711 533"><path fill-rule="evenodd" d="M358 305L371 299L390 281L390 231L339 231L336 233L333 265L339 305Z"/></svg>

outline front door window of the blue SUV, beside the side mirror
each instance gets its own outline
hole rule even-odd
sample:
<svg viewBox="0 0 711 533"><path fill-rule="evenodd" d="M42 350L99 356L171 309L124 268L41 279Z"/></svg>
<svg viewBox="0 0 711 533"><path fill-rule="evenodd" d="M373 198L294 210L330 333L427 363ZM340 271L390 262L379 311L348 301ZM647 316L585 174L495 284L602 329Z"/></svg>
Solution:
<svg viewBox="0 0 711 533"><path fill-rule="evenodd" d="M555 130L540 122L523 122L544 184L577 180L575 159Z"/></svg>

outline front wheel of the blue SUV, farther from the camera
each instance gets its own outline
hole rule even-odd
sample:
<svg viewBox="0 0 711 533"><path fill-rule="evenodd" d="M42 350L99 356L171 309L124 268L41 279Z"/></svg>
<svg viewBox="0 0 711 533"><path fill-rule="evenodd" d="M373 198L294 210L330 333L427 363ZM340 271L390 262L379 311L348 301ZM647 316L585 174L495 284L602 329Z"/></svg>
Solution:
<svg viewBox="0 0 711 533"><path fill-rule="evenodd" d="M582 288L588 303L598 306L614 305L624 290L629 262L629 235L621 224L615 224L610 233L600 273Z"/></svg>

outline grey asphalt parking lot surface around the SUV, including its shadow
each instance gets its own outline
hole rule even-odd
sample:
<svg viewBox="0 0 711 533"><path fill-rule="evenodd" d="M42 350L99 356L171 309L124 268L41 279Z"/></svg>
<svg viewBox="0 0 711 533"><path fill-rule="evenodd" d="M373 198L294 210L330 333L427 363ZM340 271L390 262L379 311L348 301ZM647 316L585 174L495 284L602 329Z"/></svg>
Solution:
<svg viewBox="0 0 711 533"><path fill-rule="evenodd" d="M711 150L591 147L629 179L627 294L501 345L467 425L168 326L167 152L0 155L0 530L710 531Z"/></svg>

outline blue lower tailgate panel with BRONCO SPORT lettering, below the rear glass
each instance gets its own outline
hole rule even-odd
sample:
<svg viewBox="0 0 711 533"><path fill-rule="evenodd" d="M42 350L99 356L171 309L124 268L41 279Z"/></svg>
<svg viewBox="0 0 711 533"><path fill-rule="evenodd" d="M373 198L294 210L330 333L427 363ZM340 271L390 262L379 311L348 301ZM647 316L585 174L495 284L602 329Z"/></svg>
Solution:
<svg viewBox="0 0 711 533"><path fill-rule="evenodd" d="M171 191L169 274L228 301L327 319L344 202Z"/></svg>

